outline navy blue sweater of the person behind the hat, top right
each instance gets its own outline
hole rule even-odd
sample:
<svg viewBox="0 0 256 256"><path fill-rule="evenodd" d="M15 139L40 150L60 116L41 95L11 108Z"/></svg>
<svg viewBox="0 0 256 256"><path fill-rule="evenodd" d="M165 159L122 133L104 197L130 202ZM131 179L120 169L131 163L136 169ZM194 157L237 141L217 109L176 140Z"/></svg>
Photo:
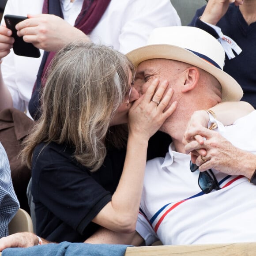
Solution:
<svg viewBox="0 0 256 256"><path fill-rule="evenodd" d="M195 17L188 26L199 27L218 38L216 32L199 19L204 9L205 6L196 11ZM242 49L235 58L229 60L226 57L223 70L241 85L244 91L241 100L249 102L256 108L256 22L248 25L239 7L230 4L228 11L216 25Z"/></svg>

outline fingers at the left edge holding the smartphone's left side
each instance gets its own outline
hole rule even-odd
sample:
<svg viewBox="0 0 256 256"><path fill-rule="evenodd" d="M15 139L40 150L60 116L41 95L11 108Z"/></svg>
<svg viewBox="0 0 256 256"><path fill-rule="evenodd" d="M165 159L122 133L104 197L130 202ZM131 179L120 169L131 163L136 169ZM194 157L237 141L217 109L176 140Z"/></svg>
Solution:
<svg viewBox="0 0 256 256"><path fill-rule="evenodd" d="M11 30L6 26L0 26L0 58L3 58L10 53L10 49L14 43L14 38L11 34Z"/></svg>

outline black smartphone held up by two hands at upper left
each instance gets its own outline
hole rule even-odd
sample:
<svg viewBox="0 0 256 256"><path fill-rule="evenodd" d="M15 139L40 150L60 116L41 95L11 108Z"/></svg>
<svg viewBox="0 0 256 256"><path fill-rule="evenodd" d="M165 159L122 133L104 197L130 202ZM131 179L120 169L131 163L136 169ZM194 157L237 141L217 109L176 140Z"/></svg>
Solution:
<svg viewBox="0 0 256 256"><path fill-rule="evenodd" d="M17 15L4 15L4 21L8 29L12 31L12 36L15 39L13 44L13 51L16 55L39 58L40 51L31 43L26 43L22 37L17 36L17 30L15 29L15 25L24 19L27 19L25 16L17 16Z"/></svg>

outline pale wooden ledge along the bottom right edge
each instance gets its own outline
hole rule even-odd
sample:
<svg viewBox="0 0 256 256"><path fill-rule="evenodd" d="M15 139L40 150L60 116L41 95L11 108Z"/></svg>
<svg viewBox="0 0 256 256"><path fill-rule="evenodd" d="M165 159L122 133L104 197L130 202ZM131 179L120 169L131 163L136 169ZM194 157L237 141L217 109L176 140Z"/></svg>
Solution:
<svg viewBox="0 0 256 256"><path fill-rule="evenodd" d="M255 256L256 243L128 247L125 256Z"/></svg>

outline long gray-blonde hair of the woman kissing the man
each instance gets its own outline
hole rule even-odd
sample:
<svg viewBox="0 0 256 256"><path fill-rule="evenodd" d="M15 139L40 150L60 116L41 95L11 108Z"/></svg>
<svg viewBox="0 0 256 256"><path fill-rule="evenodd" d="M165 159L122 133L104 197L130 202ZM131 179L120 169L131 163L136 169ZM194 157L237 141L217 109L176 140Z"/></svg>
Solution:
<svg viewBox="0 0 256 256"><path fill-rule="evenodd" d="M107 46L77 42L56 53L41 97L41 117L22 151L31 166L34 148L41 142L69 143L74 157L91 171L106 155L109 124L128 91L126 56ZM123 138L115 138L121 146Z"/></svg>

